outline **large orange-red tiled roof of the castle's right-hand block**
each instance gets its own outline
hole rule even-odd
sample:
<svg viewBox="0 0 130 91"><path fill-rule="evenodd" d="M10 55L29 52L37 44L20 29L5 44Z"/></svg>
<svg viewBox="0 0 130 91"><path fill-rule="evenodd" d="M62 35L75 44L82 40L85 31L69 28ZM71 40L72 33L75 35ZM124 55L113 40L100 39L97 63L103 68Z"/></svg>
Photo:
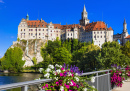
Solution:
<svg viewBox="0 0 130 91"><path fill-rule="evenodd" d="M86 31L100 31L100 30L106 30L106 24L102 21L92 22L85 26ZM109 27L107 30L113 30L111 27Z"/></svg>

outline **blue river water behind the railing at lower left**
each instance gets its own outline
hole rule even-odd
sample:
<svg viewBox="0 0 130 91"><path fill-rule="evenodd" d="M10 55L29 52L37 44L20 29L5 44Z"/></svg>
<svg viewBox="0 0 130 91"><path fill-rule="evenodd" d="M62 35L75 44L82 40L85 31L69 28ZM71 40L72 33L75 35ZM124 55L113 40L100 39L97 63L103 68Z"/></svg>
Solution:
<svg viewBox="0 0 130 91"><path fill-rule="evenodd" d="M0 85L31 81L39 78L41 75L38 73L0 73ZM8 91L20 91L20 89L17 88Z"/></svg>

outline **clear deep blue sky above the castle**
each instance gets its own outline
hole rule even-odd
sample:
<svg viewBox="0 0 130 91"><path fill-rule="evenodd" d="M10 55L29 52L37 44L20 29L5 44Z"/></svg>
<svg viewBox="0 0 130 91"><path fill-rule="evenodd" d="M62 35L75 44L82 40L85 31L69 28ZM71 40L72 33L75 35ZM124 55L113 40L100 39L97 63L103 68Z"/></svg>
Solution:
<svg viewBox="0 0 130 91"><path fill-rule="evenodd" d="M84 3L90 22L104 21L116 34L122 32L125 17L130 31L130 0L0 0L0 58L17 40L18 25L27 12L30 20L78 24Z"/></svg>

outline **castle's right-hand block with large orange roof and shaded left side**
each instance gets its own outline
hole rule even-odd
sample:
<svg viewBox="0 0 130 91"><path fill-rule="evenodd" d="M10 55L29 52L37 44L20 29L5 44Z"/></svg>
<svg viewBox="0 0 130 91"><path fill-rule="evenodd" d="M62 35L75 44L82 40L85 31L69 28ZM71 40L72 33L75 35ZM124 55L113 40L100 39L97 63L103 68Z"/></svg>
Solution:
<svg viewBox="0 0 130 91"><path fill-rule="evenodd" d="M85 26L85 30L80 31L80 41L94 42L94 45L102 46L104 42L113 41L113 29L107 28L102 21L92 22Z"/></svg>

